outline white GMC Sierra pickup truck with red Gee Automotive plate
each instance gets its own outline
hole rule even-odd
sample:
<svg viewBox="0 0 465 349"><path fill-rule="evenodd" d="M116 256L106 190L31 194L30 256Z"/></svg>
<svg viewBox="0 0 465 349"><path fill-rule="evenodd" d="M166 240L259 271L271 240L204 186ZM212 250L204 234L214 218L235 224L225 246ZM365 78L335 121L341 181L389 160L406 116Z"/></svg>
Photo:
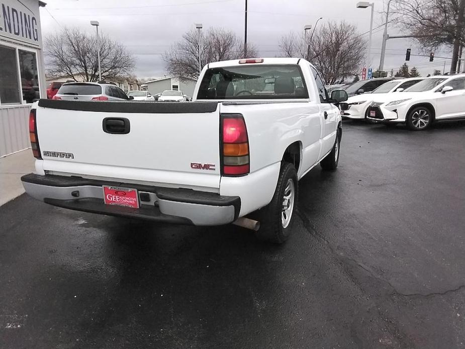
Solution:
<svg viewBox="0 0 465 349"><path fill-rule="evenodd" d="M335 104L347 94L328 96L304 59L254 58L208 64L194 96L191 103L36 102L26 192L84 212L235 223L284 242L298 180L318 163L337 166Z"/></svg>

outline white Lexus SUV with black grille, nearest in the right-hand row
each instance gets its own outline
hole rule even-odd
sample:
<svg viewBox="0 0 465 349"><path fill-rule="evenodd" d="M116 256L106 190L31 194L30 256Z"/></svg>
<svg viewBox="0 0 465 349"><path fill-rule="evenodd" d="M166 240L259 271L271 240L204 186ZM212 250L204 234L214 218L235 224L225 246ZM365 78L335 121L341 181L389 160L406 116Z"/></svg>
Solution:
<svg viewBox="0 0 465 349"><path fill-rule="evenodd" d="M465 119L465 74L425 78L389 101L370 105L367 119L387 124L406 123L424 130L433 122Z"/></svg>

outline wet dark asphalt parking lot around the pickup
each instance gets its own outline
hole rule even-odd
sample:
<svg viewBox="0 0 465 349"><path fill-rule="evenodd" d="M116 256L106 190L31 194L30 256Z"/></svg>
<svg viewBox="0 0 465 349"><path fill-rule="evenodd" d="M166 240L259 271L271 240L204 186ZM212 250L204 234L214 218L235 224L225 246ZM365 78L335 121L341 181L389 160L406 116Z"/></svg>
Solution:
<svg viewBox="0 0 465 349"><path fill-rule="evenodd" d="M22 195L0 207L0 347L464 347L464 135L345 121L282 246Z"/></svg>

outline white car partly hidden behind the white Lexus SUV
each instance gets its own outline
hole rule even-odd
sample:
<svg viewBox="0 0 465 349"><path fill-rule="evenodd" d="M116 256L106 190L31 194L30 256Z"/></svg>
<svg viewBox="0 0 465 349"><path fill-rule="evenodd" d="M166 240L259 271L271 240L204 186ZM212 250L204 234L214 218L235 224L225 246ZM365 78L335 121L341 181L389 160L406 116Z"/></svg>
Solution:
<svg viewBox="0 0 465 349"><path fill-rule="evenodd" d="M389 100L390 94L393 92L402 92L423 79L424 77L411 77L407 79L391 80L383 83L371 92L349 97L347 100L349 109L344 111L343 116L349 119L365 119L367 117L368 107L374 100L377 102Z"/></svg>

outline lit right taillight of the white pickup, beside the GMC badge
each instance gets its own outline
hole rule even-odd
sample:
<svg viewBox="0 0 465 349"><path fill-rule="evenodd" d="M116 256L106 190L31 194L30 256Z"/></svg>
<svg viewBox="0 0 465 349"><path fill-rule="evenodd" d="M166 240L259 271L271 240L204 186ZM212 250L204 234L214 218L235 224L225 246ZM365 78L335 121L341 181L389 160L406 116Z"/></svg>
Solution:
<svg viewBox="0 0 465 349"><path fill-rule="evenodd" d="M250 172L249 138L242 115L221 115L221 140L222 175L247 175Z"/></svg>

